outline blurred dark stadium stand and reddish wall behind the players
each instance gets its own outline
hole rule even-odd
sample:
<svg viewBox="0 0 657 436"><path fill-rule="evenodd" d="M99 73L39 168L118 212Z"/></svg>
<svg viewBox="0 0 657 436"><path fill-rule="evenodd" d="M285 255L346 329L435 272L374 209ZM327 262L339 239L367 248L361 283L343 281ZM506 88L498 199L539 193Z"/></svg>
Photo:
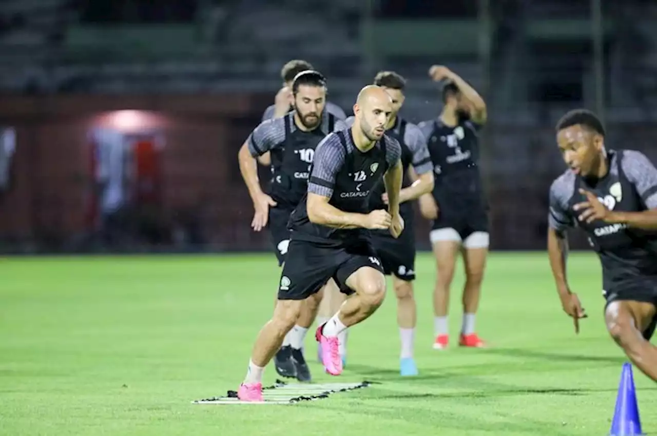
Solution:
<svg viewBox="0 0 657 436"><path fill-rule="evenodd" d="M348 114L396 70L413 122L440 113L432 64L464 77L488 105L492 248L542 250L563 112L657 158L655 23L641 0L3 0L0 251L269 250L237 150L294 58Z"/></svg>

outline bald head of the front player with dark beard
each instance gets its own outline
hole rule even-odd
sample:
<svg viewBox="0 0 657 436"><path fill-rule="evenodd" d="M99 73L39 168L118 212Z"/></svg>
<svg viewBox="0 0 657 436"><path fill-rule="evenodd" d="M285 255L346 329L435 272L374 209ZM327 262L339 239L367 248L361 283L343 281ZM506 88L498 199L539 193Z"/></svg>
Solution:
<svg viewBox="0 0 657 436"><path fill-rule="evenodd" d="M353 114L354 127L361 129L368 141L378 141L383 137L392 114L392 98L384 88L367 85L358 93Z"/></svg>

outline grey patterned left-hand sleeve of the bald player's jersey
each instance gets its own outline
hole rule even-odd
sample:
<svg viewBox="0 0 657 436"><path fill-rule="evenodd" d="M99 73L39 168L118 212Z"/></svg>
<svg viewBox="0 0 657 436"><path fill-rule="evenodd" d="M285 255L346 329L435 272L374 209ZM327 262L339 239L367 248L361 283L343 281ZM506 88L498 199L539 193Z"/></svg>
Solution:
<svg viewBox="0 0 657 436"><path fill-rule="evenodd" d="M335 133L327 135L315 148L313 171L308 180L308 192L328 197L333 195L335 177L345 161L344 147Z"/></svg>

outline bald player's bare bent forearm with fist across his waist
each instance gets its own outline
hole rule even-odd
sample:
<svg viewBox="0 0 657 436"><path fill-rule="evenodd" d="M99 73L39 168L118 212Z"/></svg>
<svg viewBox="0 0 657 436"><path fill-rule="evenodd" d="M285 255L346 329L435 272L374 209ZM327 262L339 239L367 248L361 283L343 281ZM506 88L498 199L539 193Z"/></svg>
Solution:
<svg viewBox="0 0 657 436"><path fill-rule="evenodd" d="M388 229L390 228L390 214L384 210L364 213L344 212L328 204L330 198L308 193L307 213L308 219L315 224L334 227L336 229Z"/></svg>

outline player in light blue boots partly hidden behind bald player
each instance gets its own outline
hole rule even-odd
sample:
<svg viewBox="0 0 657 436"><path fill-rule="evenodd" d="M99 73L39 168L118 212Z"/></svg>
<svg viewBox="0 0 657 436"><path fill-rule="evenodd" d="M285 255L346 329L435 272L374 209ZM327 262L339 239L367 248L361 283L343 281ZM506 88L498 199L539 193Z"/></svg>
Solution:
<svg viewBox="0 0 657 436"><path fill-rule="evenodd" d="M404 103L403 90L406 80L396 72L382 71L374 77L374 85L380 86L392 98L392 114L386 124L386 135L396 139L401 145L401 166L403 167L402 189L399 192L399 213L404 220L404 231L399 238L393 238L388 230L373 230L372 242L381 259L384 274L393 275L393 288L397 295L397 324L401 353L399 372L401 376L416 376L417 366L413 359L417 308L413 297L415 280L415 229L413 228L413 204L411 200L428 194L434 188L434 165L426 148L422 131L413 123L399 117ZM347 118L347 125L353 124L355 117ZM415 170L412 185L409 171ZM376 185L370 197L370 207L384 209L388 200L384 183Z"/></svg>

